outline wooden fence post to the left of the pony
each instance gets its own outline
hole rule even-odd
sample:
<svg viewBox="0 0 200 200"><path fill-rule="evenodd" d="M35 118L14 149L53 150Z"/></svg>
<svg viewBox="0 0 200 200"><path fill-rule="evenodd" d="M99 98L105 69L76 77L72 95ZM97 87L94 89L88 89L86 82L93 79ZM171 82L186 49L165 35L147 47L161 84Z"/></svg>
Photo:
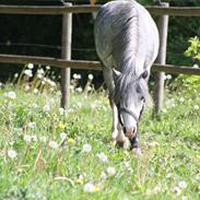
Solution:
<svg viewBox="0 0 200 200"><path fill-rule="evenodd" d="M64 7L71 7L72 3L64 3ZM72 13L62 16L62 49L61 58L71 59L71 37L72 37ZM69 108L70 105L70 68L61 69L61 107Z"/></svg>

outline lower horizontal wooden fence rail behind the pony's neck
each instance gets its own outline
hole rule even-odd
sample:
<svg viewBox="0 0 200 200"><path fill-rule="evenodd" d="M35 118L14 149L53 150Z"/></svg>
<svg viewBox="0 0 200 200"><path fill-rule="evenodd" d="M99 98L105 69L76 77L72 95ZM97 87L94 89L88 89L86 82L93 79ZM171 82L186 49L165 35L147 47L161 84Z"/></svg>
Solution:
<svg viewBox="0 0 200 200"><path fill-rule="evenodd" d="M102 70L103 66L99 61L86 61L86 60L66 60L59 58L48 57L34 57L34 56L15 56L15 55L1 55L0 62L4 63L34 63L44 66L55 66L58 68L72 68L81 70ZM164 71L166 73L174 74L196 74L200 75L200 68L192 68L186 66L173 66L173 64L160 64L154 63L152 71L158 72Z"/></svg>

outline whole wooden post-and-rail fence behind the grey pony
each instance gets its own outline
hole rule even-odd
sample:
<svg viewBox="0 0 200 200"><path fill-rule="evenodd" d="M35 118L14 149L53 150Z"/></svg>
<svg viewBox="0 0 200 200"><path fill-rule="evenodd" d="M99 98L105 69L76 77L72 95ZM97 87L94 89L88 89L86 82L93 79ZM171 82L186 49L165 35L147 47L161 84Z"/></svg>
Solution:
<svg viewBox="0 0 200 200"><path fill-rule="evenodd" d="M8 63L34 63L48 64L62 68L61 70L61 106L69 106L69 83L70 68L102 70L103 66L98 61L87 60L71 60L71 28L72 13L92 13L96 12L101 5L72 5L66 3L63 7L26 7L26 5L0 5L0 14L54 14L63 15L62 20L62 54L61 59L34 57L34 56L16 56L16 55L0 55L0 62ZM166 60L166 44L167 44L167 27L168 16L200 16L200 7L168 7L168 3L162 3L161 7L146 7L153 15L158 15L158 31L161 38L161 48L156 62L152 70L156 71L156 98L155 113L162 109L164 72L167 73L186 73L200 75L200 69L191 67L180 67L165 64Z"/></svg>

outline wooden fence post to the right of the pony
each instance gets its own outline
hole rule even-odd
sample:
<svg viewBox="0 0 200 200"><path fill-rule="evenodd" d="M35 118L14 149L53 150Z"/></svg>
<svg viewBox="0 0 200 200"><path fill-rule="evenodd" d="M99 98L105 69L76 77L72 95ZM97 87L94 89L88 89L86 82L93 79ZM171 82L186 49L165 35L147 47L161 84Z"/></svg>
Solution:
<svg viewBox="0 0 200 200"><path fill-rule="evenodd" d="M161 7L169 7L168 3L163 2ZM158 32L160 32L160 50L156 58L156 63L165 64L166 63L166 47L167 47L167 32L168 32L168 15L161 15L158 17L157 23ZM164 99L164 72L157 72L155 74L155 115L157 115L163 107Z"/></svg>

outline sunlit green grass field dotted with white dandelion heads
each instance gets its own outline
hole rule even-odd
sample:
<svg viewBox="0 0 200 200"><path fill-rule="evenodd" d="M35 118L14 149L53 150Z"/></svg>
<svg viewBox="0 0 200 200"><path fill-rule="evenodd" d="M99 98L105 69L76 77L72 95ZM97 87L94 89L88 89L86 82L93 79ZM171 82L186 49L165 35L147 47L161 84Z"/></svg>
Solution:
<svg viewBox="0 0 200 200"><path fill-rule="evenodd" d="M167 94L160 118L141 121L143 154L110 143L104 93L0 90L0 199L200 199L200 93Z"/></svg>

